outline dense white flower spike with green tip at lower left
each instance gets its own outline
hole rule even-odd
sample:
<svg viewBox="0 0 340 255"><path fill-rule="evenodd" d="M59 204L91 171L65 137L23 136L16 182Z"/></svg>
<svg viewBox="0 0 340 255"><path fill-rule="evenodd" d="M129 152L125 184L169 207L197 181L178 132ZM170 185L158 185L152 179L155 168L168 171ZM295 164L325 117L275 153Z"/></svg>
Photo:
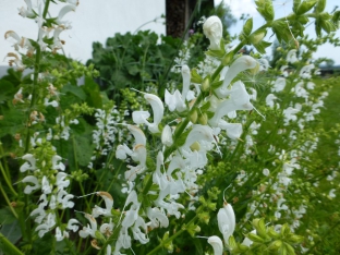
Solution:
<svg viewBox="0 0 340 255"><path fill-rule="evenodd" d="M62 158L53 151L53 147L48 143L40 144L37 142L36 153L49 149L53 153L49 160L41 160L37 155L26 154L23 156L25 162L21 166L20 171L28 173L22 183L25 183L25 194L31 194L36 191L41 191L38 207L31 212L31 217L35 218L38 224L36 231L42 238L47 232L56 227L57 241L69 236L69 231L76 231L72 227L72 222L68 227L61 226L57 221L58 209L73 208L74 203L71 201L74 195L69 194L66 187L70 185L68 174L64 172L65 166L61 162ZM59 223L57 223L59 222ZM75 221L74 221L75 222ZM60 224L60 226L59 226Z"/></svg>

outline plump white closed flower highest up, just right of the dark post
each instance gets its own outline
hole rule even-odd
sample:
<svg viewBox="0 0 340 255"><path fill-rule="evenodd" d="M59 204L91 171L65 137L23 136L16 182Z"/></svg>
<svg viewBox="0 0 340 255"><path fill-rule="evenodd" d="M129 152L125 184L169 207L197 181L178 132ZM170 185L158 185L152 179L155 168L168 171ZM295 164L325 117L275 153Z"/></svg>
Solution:
<svg viewBox="0 0 340 255"><path fill-rule="evenodd" d="M220 50L222 28L222 22L218 16L210 16L203 24L203 33L210 40L211 50Z"/></svg>

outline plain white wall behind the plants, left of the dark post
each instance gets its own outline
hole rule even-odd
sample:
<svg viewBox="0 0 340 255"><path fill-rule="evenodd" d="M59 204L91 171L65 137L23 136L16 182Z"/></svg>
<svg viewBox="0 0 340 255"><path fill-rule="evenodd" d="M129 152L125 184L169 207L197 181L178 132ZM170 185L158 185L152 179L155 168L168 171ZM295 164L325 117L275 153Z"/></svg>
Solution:
<svg viewBox="0 0 340 255"><path fill-rule="evenodd" d="M32 0L33 4L37 0ZM60 39L65 40L64 51L73 59L86 62L92 58L92 44L105 44L116 33L133 33L142 24L155 20L166 12L165 0L80 0L75 12L68 13L63 20L72 23L72 29L62 32ZM52 16L58 15L63 4L51 3ZM0 65L8 65L3 58L14 51L11 42L4 40L7 31L14 31L20 36L36 39L37 24L23 19L17 13L21 7L26 8L24 0L0 0ZM163 19L158 23L143 26L157 34L165 34ZM60 51L61 52L61 51Z"/></svg>

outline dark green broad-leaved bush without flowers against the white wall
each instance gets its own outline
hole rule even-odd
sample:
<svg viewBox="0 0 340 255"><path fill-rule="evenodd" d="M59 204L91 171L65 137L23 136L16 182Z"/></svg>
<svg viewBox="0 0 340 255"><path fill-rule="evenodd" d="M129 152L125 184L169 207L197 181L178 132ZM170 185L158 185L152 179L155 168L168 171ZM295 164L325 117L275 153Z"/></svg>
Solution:
<svg viewBox="0 0 340 255"><path fill-rule="evenodd" d="M123 100L120 89L133 87L144 90L148 85L160 82L177 54L180 39L158 38L149 31L134 35L116 34L107 39L105 47L94 42L93 59L88 63L95 64L100 72L101 89L120 105Z"/></svg>

